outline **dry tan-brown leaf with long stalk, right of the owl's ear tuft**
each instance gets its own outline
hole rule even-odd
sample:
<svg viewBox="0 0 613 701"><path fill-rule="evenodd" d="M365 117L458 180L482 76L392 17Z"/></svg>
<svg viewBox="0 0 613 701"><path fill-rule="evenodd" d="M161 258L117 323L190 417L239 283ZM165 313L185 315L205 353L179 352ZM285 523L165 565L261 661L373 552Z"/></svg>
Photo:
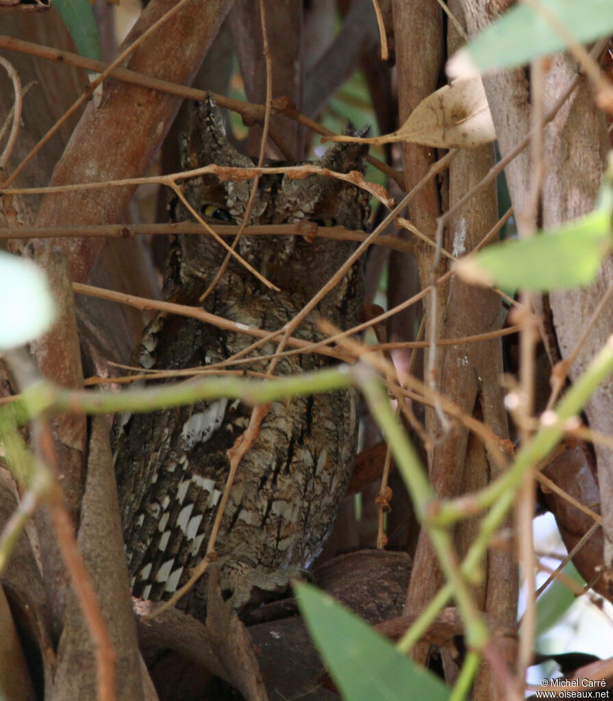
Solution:
<svg viewBox="0 0 613 701"><path fill-rule="evenodd" d="M474 149L496 138L494 123L478 76L458 79L443 86L413 110L392 134L359 139L350 136L324 137L322 141L359 141L387 144L406 141L439 149Z"/></svg>

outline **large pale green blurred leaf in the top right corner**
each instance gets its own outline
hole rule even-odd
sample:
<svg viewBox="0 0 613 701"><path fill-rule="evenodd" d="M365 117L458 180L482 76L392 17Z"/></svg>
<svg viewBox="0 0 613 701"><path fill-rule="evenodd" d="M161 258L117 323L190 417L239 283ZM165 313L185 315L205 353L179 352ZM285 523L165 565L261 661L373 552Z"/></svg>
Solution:
<svg viewBox="0 0 613 701"><path fill-rule="evenodd" d="M613 32L610 0L538 0L574 39L586 43ZM481 72L511 68L563 50L564 39L544 14L518 3L471 41L465 50ZM458 60L460 62L460 60Z"/></svg>

